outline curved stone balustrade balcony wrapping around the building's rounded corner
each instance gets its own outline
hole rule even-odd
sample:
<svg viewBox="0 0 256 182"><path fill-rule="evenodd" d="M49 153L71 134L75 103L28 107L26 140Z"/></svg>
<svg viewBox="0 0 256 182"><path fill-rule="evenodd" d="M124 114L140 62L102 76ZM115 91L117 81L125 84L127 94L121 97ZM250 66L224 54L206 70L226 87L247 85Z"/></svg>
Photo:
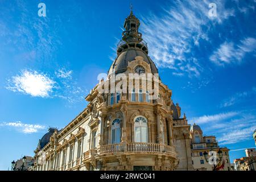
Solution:
<svg viewBox="0 0 256 182"><path fill-rule="evenodd" d="M165 154L176 156L174 147L160 143L126 143L107 144L100 147L100 155L114 155L118 152Z"/></svg>

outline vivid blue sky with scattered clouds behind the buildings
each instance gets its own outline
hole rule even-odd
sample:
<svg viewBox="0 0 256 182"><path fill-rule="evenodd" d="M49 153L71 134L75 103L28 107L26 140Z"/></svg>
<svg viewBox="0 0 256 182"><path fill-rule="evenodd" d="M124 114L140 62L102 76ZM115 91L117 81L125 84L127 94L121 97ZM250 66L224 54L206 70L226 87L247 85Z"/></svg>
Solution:
<svg viewBox="0 0 256 182"><path fill-rule="evenodd" d="M40 2L46 17L38 16ZM116 56L130 3L188 122L230 148L232 161L255 147L255 0L0 0L0 169L34 155L49 126L63 128L86 107Z"/></svg>

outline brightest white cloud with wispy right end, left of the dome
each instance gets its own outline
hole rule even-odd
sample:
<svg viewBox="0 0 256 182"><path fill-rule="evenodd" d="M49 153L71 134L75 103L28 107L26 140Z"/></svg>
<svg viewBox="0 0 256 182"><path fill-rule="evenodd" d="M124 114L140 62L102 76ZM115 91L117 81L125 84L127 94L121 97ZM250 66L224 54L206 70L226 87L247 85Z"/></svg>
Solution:
<svg viewBox="0 0 256 182"><path fill-rule="evenodd" d="M33 97L61 98L69 103L84 100L86 89L82 89L72 77L72 70L58 69L52 78L37 71L24 70L19 75L7 80L6 89L13 92L29 94Z"/></svg>

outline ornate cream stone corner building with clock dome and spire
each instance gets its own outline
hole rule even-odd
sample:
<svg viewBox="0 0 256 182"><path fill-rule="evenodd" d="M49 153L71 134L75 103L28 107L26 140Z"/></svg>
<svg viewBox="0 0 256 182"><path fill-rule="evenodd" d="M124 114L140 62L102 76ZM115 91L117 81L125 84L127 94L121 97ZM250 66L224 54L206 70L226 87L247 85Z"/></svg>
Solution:
<svg viewBox="0 0 256 182"><path fill-rule="evenodd" d="M131 11L108 78L158 74L139 25ZM154 100L141 82L138 92L100 93L100 86L91 90L85 98L88 106L64 129L49 129L39 140L36 170L193 170L190 125L167 85L159 80Z"/></svg>

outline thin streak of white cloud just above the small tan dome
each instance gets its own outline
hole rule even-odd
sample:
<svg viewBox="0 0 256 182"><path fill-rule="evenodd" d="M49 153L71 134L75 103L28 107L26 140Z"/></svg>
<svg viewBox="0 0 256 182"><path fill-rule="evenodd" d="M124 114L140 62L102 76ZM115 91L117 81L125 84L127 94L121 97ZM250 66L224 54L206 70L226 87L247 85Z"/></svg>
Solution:
<svg viewBox="0 0 256 182"><path fill-rule="evenodd" d="M195 123L197 124L219 122L228 118L232 118L237 114L238 112L233 111L233 112L220 113L220 114L214 114L214 115L203 115L201 117L193 118L192 121L195 121Z"/></svg>

